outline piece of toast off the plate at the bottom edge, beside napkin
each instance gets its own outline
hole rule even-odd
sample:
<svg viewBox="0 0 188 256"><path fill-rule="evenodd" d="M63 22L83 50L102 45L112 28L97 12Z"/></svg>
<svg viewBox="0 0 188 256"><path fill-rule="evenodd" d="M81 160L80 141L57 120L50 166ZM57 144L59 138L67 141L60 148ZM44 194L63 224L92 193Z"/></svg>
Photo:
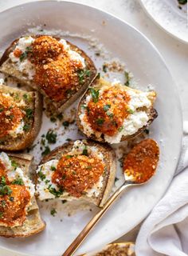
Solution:
<svg viewBox="0 0 188 256"><path fill-rule="evenodd" d="M135 256L135 244L133 242L114 242L100 250L80 256Z"/></svg>

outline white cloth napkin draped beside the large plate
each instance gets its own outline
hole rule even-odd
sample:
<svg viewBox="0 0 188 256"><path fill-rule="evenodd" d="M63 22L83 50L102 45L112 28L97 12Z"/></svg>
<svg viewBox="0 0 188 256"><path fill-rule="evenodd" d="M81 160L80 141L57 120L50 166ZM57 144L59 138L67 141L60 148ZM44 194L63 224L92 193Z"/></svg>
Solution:
<svg viewBox="0 0 188 256"><path fill-rule="evenodd" d="M174 179L139 230L136 256L188 255L188 122L184 122L183 130Z"/></svg>

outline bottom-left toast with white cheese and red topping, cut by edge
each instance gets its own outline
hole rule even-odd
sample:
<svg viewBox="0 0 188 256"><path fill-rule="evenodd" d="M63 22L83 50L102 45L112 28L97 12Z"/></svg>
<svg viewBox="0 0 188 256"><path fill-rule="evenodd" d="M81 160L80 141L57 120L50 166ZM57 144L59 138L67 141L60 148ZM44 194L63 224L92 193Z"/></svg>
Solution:
<svg viewBox="0 0 188 256"><path fill-rule="evenodd" d="M0 236L28 237L45 229L31 181L29 154L0 153Z"/></svg>

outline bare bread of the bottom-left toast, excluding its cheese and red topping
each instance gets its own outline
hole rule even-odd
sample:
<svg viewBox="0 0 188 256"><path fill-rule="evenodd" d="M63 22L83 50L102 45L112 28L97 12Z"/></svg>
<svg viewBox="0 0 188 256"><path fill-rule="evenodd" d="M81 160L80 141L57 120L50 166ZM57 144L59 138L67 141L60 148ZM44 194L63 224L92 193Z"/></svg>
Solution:
<svg viewBox="0 0 188 256"><path fill-rule="evenodd" d="M32 156L29 154L8 154L10 160L14 165L16 164L20 167L24 173L25 177L29 177L31 174L31 163ZM6 238L16 238L16 237L29 237L33 234L37 234L45 229L45 222L41 219L39 209L37 206L37 201L35 197L31 198L31 206L27 209L26 219L22 226L1 226L0 225L0 236Z"/></svg>

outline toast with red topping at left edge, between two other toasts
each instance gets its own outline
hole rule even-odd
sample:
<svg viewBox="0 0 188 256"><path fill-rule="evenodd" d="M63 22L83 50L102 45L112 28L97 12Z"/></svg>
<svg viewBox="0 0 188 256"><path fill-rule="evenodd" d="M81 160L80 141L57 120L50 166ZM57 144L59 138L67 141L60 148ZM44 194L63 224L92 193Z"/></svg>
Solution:
<svg viewBox="0 0 188 256"><path fill-rule="evenodd" d="M0 150L24 150L33 143L41 128L41 94L0 85L0 96Z"/></svg>

